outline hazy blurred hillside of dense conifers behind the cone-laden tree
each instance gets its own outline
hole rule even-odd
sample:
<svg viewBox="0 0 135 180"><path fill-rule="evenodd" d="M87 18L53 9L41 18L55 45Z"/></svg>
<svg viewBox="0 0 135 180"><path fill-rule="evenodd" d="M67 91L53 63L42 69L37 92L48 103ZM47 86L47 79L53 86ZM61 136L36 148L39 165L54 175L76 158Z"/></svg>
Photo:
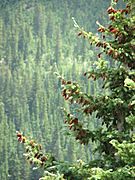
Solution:
<svg viewBox="0 0 135 180"><path fill-rule="evenodd" d="M85 147L65 135L61 107L71 107L61 97L54 72L78 81L92 95L100 92L101 82L87 83L83 76L94 65L98 48L93 50L77 37L72 17L95 32L96 20L106 23L104 9L109 4L109 0L0 1L0 179L34 180L42 171L33 171L22 157L16 130L37 139L61 161L96 158L93 144ZM75 107L71 111L76 114ZM94 115L89 118L91 129L99 125L94 120Z"/></svg>

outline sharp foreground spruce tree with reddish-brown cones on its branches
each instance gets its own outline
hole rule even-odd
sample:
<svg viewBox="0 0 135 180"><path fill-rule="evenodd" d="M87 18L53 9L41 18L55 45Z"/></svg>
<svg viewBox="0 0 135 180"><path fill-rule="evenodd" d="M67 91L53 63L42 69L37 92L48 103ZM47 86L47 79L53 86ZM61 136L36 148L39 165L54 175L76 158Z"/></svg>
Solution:
<svg viewBox="0 0 135 180"><path fill-rule="evenodd" d="M69 131L83 145L88 145L91 141L96 143L95 152L98 157L89 163L84 163L82 160L66 163L55 160L49 155L45 161L43 179L132 180L135 178L134 2L129 0L125 8L116 9L114 6L117 2L117 0L112 1L112 5L107 9L108 25L104 27L97 22L101 37L84 31L73 18L75 27L79 29L78 36L87 38L91 45L101 49L97 55L98 62L94 63L84 76L94 81L100 79L104 93L90 95L90 92L83 92L79 83L66 81L57 74L62 83L64 100L68 101L71 107L73 105L77 107L78 113L82 112L88 117L95 113L100 121L97 128L91 129L77 116L77 113L71 113L72 109L71 112L64 109L64 122ZM105 60L106 56L112 59L113 64ZM23 142L25 137L20 136ZM25 147L29 145L29 140L26 142L24 142ZM41 166L42 156L37 158L38 160L32 158L35 157L35 153L40 152L39 149L34 149L28 151L30 160Z"/></svg>

